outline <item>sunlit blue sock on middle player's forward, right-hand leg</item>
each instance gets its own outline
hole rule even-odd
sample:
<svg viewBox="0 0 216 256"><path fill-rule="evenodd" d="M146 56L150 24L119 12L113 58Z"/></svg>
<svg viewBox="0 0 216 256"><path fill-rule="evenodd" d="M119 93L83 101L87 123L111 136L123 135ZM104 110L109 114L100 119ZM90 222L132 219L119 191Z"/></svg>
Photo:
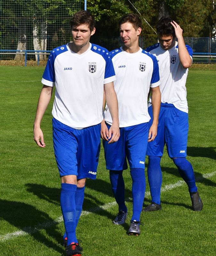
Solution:
<svg viewBox="0 0 216 256"><path fill-rule="evenodd" d="M145 169L131 169L131 178L133 198L133 215L131 220L140 221L140 214L146 190Z"/></svg>

